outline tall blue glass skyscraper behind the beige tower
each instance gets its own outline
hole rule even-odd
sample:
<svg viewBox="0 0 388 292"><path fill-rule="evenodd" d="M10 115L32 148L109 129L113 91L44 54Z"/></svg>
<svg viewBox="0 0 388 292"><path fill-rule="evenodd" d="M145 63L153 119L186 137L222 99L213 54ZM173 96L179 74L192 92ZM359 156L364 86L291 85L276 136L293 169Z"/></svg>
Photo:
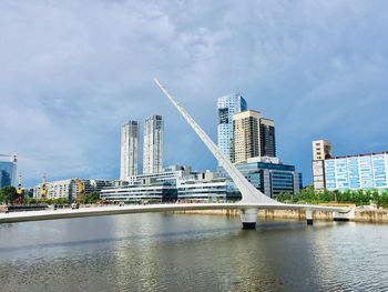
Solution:
<svg viewBox="0 0 388 292"><path fill-rule="evenodd" d="M218 98L218 127L217 127L217 144L221 152L228 158L233 159L233 115L237 112L245 111L247 109L245 99L239 93L232 93Z"/></svg>

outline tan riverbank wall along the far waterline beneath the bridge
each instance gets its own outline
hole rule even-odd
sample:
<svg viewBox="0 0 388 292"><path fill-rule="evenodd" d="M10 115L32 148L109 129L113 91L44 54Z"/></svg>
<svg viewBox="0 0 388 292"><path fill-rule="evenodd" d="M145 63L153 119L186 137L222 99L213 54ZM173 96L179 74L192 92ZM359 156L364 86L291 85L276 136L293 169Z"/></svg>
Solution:
<svg viewBox="0 0 388 292"><path fill-rule="evenodd" d="M207 215L226 215L237 217L237 210L187 210L173 211L174 213L185 214L207 214ZM305 220L306 212L299 210L259 210L258 219L295 219ZM331 221L331 212L316 211L314 212L315 220ZM354 222L369 222L369 223L388 223L388 209L379 210L356 210Z"/></svg>

